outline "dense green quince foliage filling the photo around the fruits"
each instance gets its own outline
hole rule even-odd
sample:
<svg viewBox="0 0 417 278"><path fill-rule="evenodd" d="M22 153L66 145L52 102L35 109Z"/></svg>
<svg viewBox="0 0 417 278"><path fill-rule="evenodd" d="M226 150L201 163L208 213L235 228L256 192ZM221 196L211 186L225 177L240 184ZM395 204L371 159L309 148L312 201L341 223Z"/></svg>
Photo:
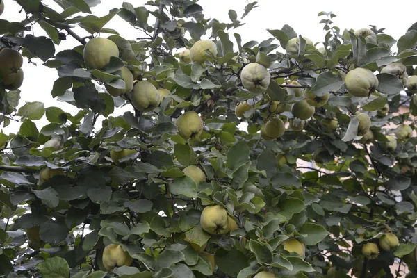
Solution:
<svg viewBox="0 0 417 278"><path fill-rule="evenodd" d="M138 7L131 1L104 17L91 14L100 1L55 2L62 10L41 0L17 0L28 19L0 20L0 46L55 68L52 97L79 108L72 115L33 102L17 110L19 90L0 89L3 126L16 117L21 121L17 134L0 133L0 276L244 278L265 270L302 278L330 276L331 268L334 275L336 268L336 277L395 277L389 268L395 260L417 273L417 139L398 140L386 151L386 135L395 135L396 126L414 129L417 107L401 78L416 74L417 24L398 41L373 26L375 44L374 38L341 31L332 22L336 15L322 12L327 33L320 49L288 25L268 30L272 37L263 42L242 42L234 29L256 2L247 4L240 19L229 10L229 23L206 19L197 1L149 0ZM105 28L116 15L147 38L127 44L118 38L126 45L117 45L120 57L111 57L104 69L88 69L83 44L89 38L80 38L72 26L92 37L118 35ZM31 34L31 24L40 24L49 38ZM208 37L217 56L206 51L211 58L203 65L178 60L177 49ZM80 45L56 53L55 44L64 39ZM297 43L296 53L285 51L290 40ZM394 61L406 66L402 76L376 74ZM243 88L240 72L248 63L268 68L266 92ZM132 106L115 115L131 99L109 95L104 85L125 88L124 65L138 72L138 81L170 94L152 110ZM355 67L377 76L376 91L368 97L345 89L345 75ZM291 113L291 105L304 98L295 90L306 88L319 98L330 92L308 122ZM234 109L244 101L238 118ZM270 110L276 101L285 106L278 115ZM378 113L386 104L389 112ZM408 105L410 111L400 110ZM183 111L201 115L199 136L179 136L175 122ZM373 137L367 142L357 136L357 112L371 119ZM43 116L49 124L38 129L35 121ZM97 122L99 116L105 120ZM281 123L271 117L285 122L286 131L261 137L268 120ZM329 126L332 119L336 126ZM43 148L51 138L63 146ZM111 151L122 149L138 152L117 156L116 165ZM189 165L203 170L206 181L184 176ZM48 172L41 173L44 169ZM200 214L209 205L224 207L238 229L204 231ZM387 232L400 245L379 248L376 259L366 259L362 246L378 244ZM288 238L305 245L305 258L284 249ZM101 257L111 243L129 253L130 266L105 271ZM197 253L191 243L207 245Z"/></svg>

